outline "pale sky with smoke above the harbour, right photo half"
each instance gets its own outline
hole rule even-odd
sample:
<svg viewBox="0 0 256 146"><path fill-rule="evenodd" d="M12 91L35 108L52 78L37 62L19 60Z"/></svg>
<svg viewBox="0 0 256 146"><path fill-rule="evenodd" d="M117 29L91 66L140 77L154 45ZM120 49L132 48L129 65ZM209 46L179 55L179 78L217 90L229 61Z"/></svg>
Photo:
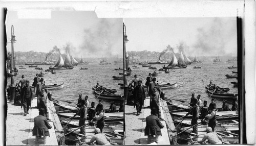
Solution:
<svg viewBox="0 0 256 146"><path fill-rule="evenodd" d="M236 17L124 18L126 51L162 52L167 45L187 56L237 56Z"/></svg>

